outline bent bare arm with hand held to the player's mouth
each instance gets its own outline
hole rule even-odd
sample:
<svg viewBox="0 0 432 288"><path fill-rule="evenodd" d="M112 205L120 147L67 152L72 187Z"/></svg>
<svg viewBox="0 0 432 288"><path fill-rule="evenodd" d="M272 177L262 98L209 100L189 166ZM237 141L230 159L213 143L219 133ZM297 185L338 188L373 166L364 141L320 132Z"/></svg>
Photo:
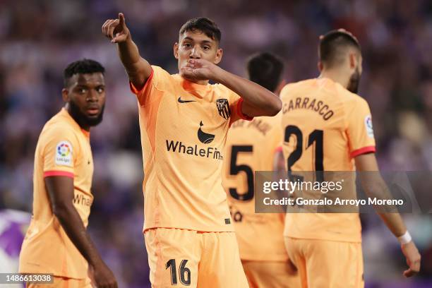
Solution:
<svg viewBox="0 0 432 288"><path fill-rule="evenodd" d="M184 78L192 80L213 80L236 92L244 100L241 112L247 116L275 116L282 109L282 101L275 94L246 78L225 71L210 61L189 59L180 73Z"/></svg>

